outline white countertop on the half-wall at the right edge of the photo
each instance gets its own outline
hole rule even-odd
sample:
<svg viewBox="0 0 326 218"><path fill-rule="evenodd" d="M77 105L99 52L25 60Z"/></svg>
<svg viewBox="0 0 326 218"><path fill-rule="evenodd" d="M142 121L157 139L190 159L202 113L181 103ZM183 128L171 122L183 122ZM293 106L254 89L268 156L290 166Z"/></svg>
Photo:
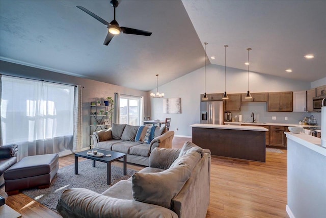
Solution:
<svg viewBox="0 0 326 218"><path fill-rule="evenodd" d="M307 147L308 149L311 149L323 156L326 156L326 148L321 147L321 139L304 134L304 133L299 133L299 134L294 134L291 132L285 132L285 135L288 139L291 139L297 143L302 144L303 146Z"/></svg>

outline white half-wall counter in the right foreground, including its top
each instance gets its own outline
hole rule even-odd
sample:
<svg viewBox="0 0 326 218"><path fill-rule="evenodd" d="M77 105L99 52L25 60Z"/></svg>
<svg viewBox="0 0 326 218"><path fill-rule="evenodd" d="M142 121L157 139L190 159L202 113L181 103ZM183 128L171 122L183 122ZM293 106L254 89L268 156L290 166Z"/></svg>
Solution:
<svg viewBox="0 0 326 218"><path fill-rule="evenodd" d="M287 137L287 205L290 217L319 218L326 214L326 148L321 139L304 133Z"/></svg>

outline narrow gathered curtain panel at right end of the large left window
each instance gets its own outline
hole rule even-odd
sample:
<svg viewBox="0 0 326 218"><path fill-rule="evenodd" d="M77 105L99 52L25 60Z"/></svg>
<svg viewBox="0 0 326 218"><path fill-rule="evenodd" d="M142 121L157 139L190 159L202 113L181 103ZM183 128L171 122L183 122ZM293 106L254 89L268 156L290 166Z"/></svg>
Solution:
<svg viewBox="0 0 326 218"><path fill-rule="evenodd" d="M74 88L72 151L80 152L82 148L83 148L82 86L77 85Z"/></svg>

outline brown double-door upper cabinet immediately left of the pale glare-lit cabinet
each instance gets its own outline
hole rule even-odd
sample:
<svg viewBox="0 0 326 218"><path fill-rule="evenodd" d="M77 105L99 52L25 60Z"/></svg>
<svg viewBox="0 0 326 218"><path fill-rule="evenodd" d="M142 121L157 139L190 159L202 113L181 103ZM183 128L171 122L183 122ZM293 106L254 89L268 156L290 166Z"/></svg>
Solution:
<svg viewBox="0 0 326 218"><path fill-rule="evenodd" d="M293 92L268 92L268 111L291 112L293 111Z"/></svg>

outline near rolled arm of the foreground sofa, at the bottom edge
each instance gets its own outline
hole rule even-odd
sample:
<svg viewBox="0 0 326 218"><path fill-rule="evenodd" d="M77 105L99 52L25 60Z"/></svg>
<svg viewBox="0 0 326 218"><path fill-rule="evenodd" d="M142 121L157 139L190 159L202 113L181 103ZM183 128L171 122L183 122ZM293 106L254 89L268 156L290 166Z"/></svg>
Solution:
<svg viewBox="0 0 326 218"><path fill-rule="evenodd" d="M64 190L57 210L63 217L178 217L165 207L111 198L85 188Z"/></svg>

